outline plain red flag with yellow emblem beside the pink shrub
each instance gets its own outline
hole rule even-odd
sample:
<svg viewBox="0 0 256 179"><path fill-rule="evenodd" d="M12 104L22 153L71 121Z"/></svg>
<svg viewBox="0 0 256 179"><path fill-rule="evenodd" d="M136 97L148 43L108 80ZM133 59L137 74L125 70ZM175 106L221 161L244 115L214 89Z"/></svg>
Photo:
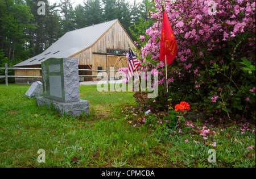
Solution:
<svg viewBox="0 0 256 179"><path fill-rule="evenodd" d="M171 24L168 20L166 11L164 11L162 35L160 41L160 60L170 65L177 54L177 43L172 32ZM166 58L165 58L166 56Z"/></svg>

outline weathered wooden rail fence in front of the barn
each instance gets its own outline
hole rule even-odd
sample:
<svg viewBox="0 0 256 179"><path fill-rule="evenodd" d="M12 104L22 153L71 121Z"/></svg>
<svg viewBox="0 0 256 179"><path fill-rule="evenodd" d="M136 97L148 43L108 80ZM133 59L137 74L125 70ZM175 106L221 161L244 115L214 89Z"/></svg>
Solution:
<svg viewBox="0 0 256 179"><path fill-rule="evenodd" d="M5 64L5 68L0 68L0 70L5 70L5 76L0 76L0 78L5 78L5 85L8 86L8 78L42 78L32 77L32 76L9 76L8 70L42 70L41 68L8 68L8 64ZM106 70L94 70L94 69L79 69L81 72L106 72L106 76L96 76L96 75L79 75L80 78L106 78L107 84L109 83L109 78L115 78L115 76L109 76L109 72L118 72L118 70L109 70L107 67ZM81 80L79 80L81 82Z"/></svg>

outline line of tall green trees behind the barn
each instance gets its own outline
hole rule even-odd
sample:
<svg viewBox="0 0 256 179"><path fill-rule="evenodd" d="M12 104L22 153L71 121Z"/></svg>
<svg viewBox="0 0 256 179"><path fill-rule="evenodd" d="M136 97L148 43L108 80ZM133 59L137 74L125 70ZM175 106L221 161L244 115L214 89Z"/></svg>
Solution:
<svg viewBox="0 0 256 179"><path fill-rule="evenodd" d="M9 66L45 51L66 32L119 19L136 40L136 24L150 22L152 1L133 4L126 0L85 0L73 7L70 0L51 5L44 0L46 14L39 15L40 0L0 0L0 66ZM146 29L146 28L145 28Z"/></svg>

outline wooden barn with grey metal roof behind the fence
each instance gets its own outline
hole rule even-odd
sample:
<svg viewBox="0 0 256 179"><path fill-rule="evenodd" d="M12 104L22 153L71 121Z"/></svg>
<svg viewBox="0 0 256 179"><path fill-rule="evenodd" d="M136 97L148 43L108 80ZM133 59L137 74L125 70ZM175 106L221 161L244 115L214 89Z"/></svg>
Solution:
<svg viewBox="0 0 256 179"><path fill-rule="evenodd" d="M41 68L41 63L49 58L77 58L79 69L106 70L107 67L127 67L127 60L117 60L118 56L125 56L131 48L136 48L118 19L95 24L67 32L43 53L32 57L15 68ZM97 75L97 72L79 72L80 75ZM15 70L15 76L42 76L41 70ZM40 79L15 78L17 84L27 84ZM96 80L84 78L85 81Z"/></svg>

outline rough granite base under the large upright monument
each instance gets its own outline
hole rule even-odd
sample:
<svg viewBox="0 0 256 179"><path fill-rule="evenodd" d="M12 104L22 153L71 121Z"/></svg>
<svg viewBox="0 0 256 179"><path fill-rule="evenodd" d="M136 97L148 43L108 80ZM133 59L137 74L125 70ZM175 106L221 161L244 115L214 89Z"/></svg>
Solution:
<svg viewBox="0 0 256 179"><path fill-rule="evenodd" d="M46 106L48 108L53 107L60 114L70 114L72 116L80 116L82 113L90 114L90 103L80 99L77 102L60 102L54 99L45 97L36 97L36 102L39 106Z"/></svg>

